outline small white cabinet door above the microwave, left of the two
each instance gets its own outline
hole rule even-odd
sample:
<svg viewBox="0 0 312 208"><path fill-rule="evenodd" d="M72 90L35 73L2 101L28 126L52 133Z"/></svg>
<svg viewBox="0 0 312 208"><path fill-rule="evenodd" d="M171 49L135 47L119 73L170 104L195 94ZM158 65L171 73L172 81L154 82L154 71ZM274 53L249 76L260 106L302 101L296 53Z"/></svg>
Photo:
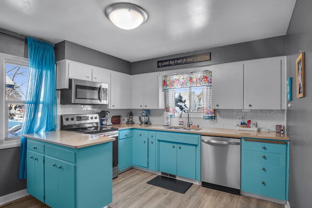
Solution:
<svg viewBox="0 0 312 208"><path fill-rule="evenodd" d="M68 77L75 79L82 79L86 81L92 81L92 67L85 64L79 64L76 62L67 62Z"/></svg>

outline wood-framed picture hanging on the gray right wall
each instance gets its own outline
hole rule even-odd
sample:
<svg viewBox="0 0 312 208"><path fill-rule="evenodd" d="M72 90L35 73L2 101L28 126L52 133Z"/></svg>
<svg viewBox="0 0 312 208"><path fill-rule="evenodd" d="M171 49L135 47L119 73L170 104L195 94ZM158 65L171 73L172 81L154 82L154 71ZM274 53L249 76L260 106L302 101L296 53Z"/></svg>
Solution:
<svg viewBox="0 0 312 208"><path fill-rule="evenodd" d="M304 52L301 52L296 60L296 92L297 97L306 95L305 73L304 73Z"/></svg>

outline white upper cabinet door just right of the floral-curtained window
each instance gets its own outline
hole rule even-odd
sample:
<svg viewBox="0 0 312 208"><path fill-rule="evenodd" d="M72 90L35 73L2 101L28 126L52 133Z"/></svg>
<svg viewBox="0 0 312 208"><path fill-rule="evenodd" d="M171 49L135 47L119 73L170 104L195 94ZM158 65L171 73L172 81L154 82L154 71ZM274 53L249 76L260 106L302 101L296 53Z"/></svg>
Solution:
<svg viewBox="0 0 312 208"><path fill-rule="evenodd" d="M243 109L243 63L216 65L212 69L214 109Z"/></svg>

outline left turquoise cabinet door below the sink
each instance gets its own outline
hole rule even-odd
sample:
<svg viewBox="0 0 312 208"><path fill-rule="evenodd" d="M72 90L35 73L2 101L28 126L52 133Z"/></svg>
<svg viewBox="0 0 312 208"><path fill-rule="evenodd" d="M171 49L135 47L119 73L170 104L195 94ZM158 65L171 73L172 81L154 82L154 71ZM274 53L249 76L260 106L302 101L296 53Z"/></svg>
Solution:
<svg viewBox="0 0 312 208"><path fill-rule="evenodd" d="M176 144L159 141L159 171L176 175Z"/></svg>

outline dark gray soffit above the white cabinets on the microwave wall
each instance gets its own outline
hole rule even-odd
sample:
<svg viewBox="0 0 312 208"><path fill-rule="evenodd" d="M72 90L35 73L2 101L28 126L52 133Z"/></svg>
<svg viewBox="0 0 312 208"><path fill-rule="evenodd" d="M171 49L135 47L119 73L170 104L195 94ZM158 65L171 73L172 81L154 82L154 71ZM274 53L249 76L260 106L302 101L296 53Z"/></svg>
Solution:
<svg viewBox="0 0 312 208"><path fill-rule="evenodd" d="M69 59L125 74L131 73L129 61L64 40L56 45L56 60Z"/></svg>

